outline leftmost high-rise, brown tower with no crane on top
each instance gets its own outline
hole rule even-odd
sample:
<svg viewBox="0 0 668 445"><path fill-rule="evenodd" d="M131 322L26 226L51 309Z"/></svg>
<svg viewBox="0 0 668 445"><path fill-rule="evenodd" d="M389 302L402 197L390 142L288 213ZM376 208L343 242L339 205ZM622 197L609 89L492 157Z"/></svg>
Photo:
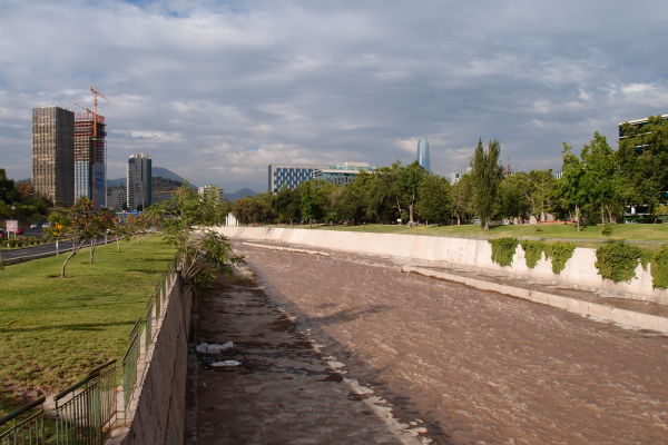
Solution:
<svg viewBox="0 0 668 445"><path fill-rule="evenodd" d="M53 204L75 202L75 113L32 109L32 187Z"/></svg>

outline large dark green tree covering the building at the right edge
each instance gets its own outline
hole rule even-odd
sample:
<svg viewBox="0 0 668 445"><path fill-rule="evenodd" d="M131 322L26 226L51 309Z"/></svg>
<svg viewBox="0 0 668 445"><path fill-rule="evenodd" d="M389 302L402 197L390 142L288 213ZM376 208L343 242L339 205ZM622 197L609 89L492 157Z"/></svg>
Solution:
<svg viewBox="0 0 668 445"><path fill-rule="evenodd" d="M650 117L641 127L621 128L617 160L629 205L668 201L668 121Z"/></svg>

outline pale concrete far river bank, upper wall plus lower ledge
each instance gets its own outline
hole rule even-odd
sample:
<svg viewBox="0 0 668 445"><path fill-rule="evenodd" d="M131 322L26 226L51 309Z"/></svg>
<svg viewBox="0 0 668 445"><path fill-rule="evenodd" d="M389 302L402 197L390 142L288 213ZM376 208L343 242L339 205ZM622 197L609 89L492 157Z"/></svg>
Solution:
<svg viewBox="0 0 668 445"><path fill-rule="evenodd" d="M654 289L651 274L640 265L636 278L630 283L613 283L603 279L595 266L596 250L576 248L561 274L552 273L550 260L544 257L536 268L525 265L524 251L518 246L512 266L501 267L491 260L491 246L487 240L428 237L419 235L367 234L335 230L311 230L265 227L218 227L217 230L229 238L262 240L291 246L325 248L365 255L399 257L416 261L431 261L445 267L485 270L510 278L519 278L561 286L571 289L593 291L615 298L628 298L668 305L668 291ZM490 280L466 277L465 274L429 268L404 267L404 271L420 273L466 284L484 290L494 290L513 297L528 299L574 314L605 322L613 322L640 329L651 329L668 334L668 318L635 310L615 308L606 304L569 298L546 291L491 283Z"/></svg>

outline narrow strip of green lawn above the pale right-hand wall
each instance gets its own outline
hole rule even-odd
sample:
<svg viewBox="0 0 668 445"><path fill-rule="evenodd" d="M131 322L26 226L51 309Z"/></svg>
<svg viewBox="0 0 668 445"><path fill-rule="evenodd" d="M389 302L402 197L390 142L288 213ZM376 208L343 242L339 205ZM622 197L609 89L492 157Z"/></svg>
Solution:
<svg viewBox="0 0 668 445"><path fill-rule="evenodd" d="M294 226L308 228L308 226ZM313 228L326 230L351 230L369 231L379 234L411 234L428 236L456 236L472 238L502 238L502 237L528 237L528 238L568 238L582 246L589 246L586 239L629 239L638 241L668 243L668 224L617 224L612 226L612 235L601 235L600 226L583 227L578 231L574 226L563 224L540 224L519 226L493 226L490 230L483 230L479 225L462 226L418 226L405 225L381 225L367 224L362 226L314 226Z"/></svg>

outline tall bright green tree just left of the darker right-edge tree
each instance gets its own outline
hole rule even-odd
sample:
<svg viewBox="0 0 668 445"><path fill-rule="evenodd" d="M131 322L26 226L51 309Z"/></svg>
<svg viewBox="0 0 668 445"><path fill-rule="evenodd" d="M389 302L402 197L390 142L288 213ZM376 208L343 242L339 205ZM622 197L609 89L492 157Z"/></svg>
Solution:
<svg viewBox="0 0 668 445"><path fill-rule="evenodd" d="M587 196L590 211L598 210L601 224L615 222L615 212L620 212L622 207L621 182L615 151L608 145L606 137L599 132L593 134L589 145L582 148L581 187Z"/></svg>

